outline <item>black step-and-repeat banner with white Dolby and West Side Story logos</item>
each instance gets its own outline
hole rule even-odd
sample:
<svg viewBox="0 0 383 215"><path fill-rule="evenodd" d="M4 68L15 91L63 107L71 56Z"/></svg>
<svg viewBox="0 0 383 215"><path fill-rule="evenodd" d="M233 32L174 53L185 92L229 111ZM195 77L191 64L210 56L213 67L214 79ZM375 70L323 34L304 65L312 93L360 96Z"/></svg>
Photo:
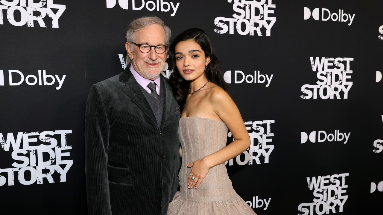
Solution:
<svg viewBox="0 0 383 215"><path fill-rule="evenodd" d="M0 0L0 213L87 213L89 88L122 71L129 22L157 15L173 37L198 27L216 47L251 139L226 167L255 212L380 214L382 9L380 0Z"/></svg>

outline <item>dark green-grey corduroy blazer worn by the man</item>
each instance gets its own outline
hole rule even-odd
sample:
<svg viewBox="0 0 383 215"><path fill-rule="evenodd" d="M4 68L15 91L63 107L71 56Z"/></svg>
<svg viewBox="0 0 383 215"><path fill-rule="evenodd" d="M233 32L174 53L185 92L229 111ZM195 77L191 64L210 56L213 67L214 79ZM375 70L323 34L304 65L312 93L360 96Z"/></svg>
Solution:
<svg viewBox="0 0 383 215"><path fill-rule="evenodd" d="M180 169L180 108L160 75L162 121L129 66L94 84L85 113L85 175L89 215L166 215Z"/></svg>

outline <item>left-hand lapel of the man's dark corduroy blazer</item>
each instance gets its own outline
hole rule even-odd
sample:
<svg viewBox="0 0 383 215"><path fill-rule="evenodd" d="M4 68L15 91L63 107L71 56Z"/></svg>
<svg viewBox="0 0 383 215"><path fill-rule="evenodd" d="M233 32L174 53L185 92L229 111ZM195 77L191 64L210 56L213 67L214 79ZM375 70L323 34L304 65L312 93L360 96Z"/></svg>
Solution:
<svg viewBox="0 0 383 215"><path fill-rule="evenodd" d="M140 85L137 83L136 79L129 70L129 67L126 67L124 72L121 73L119 80L126 83L123 88L123 91L133 100L134 103L144 112L158 127L157 120L155 119L152 108L147 102L144 94L140 89Z"/></svg>

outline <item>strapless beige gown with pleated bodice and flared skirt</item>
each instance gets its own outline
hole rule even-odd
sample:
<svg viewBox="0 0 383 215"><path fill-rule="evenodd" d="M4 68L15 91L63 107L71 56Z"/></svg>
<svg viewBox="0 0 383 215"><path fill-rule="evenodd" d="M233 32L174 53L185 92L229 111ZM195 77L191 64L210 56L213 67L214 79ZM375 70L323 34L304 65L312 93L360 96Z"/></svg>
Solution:
<svg viewBox="0 0 383 215"><path fill-rule="evenodd" d="M225 164L209 170L197 189L188 189L190 168L186 165L226 146L228 127L223 122L185 117L179 122L182 145L180 191L169 204L168 215L256 215L234 191Z"/></svg>

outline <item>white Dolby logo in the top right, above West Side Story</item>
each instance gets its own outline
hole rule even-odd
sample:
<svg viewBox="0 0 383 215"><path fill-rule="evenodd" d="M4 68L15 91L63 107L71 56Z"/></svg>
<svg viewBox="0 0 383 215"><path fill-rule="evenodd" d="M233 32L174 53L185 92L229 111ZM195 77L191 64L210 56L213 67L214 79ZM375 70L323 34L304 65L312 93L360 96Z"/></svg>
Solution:
<svg viewBox="0 0 383 215"><path fill-rule="evenodd" d="M321 11L321 16L319 16L319 11ZM354 21L355 14L351 15L350 13L344 13L344 10L340 9L337 11L337 13L331 13L327 8L315 8L313 11L311 11L309 8L304 7L303 19L308 20L310 16L312 16L313 19L317 21L328 21L331 19L334 22L348 22L348 25L350 26L352 21Z"/></svg>

